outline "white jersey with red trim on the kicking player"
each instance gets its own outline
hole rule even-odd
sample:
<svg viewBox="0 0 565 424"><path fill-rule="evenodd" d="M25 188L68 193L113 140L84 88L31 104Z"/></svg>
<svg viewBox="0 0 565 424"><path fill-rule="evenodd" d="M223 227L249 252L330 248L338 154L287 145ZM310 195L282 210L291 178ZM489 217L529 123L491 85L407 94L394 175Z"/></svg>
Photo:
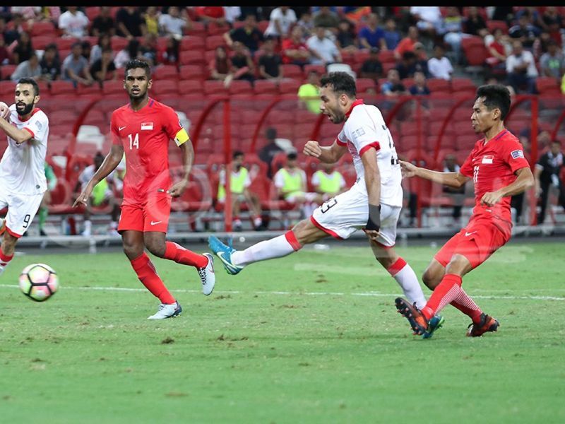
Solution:
<svg viewBox="0 0 565 424"><path fill-rule="evenodd" d="M336 141L340 146L347 146L349 149L357 172L357 184L363 186L364 167L361 156L367 149L374 147L381 175L381 204L403 205L402 173L398 155L391 131L376 106L364 105L362 100L356 100Z"/></svg>

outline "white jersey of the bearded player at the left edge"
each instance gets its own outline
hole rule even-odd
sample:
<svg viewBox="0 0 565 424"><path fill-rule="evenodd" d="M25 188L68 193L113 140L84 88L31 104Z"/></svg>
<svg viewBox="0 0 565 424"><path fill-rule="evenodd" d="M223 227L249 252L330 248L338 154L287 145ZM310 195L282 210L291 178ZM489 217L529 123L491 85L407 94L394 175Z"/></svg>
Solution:
<svg viewBox="0 0 565 424"><path fill-rule="evenodd" d="M49 119L38 108L27 121L21 121L16 105L10 106L12 125L24 129L32 139L17 144L8 137L8 148L0 161L0 188L4 192L25 195L41 194L47 190L45 178L45 155L49 137Z"/></svg>

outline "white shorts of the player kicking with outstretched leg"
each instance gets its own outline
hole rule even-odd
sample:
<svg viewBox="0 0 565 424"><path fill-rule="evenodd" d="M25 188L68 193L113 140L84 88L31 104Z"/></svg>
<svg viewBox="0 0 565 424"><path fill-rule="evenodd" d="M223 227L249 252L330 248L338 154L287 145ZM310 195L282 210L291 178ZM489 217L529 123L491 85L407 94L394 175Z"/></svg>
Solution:
<svg viewBox="0 0 565 424"><path fill-rule="evenodd" d="M396 225L400 206L381 204L379 245L393 247L396 243ZM316 227L335 238L346 239L367 225L369 206L367 192L360 184L353 184L347 192L338 194L314 210L310 220Z"/></svg>

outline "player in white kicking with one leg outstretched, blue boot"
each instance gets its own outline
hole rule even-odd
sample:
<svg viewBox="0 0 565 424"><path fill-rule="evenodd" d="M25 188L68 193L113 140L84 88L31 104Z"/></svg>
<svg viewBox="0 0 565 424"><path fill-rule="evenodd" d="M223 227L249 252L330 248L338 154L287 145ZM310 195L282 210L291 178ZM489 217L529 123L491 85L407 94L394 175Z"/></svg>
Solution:
<svg viewBox="0 0 565 424"><path fill-rule="evenodd" d="M356 99L355 80L348 73L332 72L321 78L320 98L323 114L334 124L345 124L331 146L308 141L304 153L321 162L336 163L349 151L357 171L355 184L347 192L324 202L310 218L297 223L284 235L258 242L241 252L215 236L208 238L208 245L227 273L236 274L246 265L284 257L329 235L347 239L362 229L369 237L376 260L396 279L410 302L423 305L426 299L415 272L394 249L403 191L391 132L379 109ZM431 336L442 323L442 317L434 317L424 338Z"/></svg>

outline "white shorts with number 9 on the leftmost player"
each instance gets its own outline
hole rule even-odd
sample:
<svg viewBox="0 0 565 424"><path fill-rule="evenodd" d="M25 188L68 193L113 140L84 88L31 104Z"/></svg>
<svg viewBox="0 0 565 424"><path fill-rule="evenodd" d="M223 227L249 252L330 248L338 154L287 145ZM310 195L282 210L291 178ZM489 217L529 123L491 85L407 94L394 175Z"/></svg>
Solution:
<svg viewBox="0 0 565 424"><path fill-rule="evenodd" d="M7 193L0 190L0 209L8 206L6 231L14 237L21 237L30 228L31 222L43 199L43 193L25 194Z"/></svg>

